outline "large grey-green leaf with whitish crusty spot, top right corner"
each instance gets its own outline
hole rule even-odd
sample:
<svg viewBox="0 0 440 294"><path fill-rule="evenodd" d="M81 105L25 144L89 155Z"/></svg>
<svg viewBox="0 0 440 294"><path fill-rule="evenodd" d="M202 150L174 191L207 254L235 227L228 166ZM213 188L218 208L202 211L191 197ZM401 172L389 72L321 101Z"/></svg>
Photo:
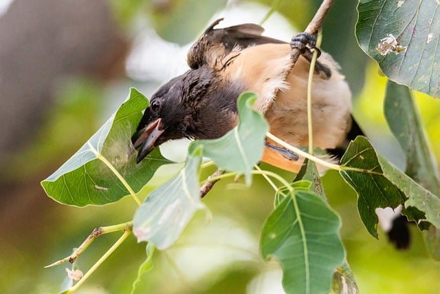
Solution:
<svg viewBox="0 0 440 294"><path fill-rule="evenodd" d="M438 1L360 0L356 36L392 81L440 97Z"/></svg>

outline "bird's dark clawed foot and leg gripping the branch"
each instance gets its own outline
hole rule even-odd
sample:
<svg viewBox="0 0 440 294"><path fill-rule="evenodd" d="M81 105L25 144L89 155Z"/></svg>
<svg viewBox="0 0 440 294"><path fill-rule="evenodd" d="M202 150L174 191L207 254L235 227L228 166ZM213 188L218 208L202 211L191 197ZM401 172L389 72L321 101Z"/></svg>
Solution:
<svg viewBox="0 0 440 294"><path fill-rule="evenodd" d="M318 57L321 55L321 50L316 48L315 36L307 32L300 32L296 36L293 36L292 41L290 41L290 48L300 50L301 55L303 55L304 58L309 62L311 62L311 58L313 56L313 52L311 52L310 49L316 50L318 52ZM319 61L316 61L315 72L323 72L327 78L331 77L331 70L329 67L323 65Z"/></svg>

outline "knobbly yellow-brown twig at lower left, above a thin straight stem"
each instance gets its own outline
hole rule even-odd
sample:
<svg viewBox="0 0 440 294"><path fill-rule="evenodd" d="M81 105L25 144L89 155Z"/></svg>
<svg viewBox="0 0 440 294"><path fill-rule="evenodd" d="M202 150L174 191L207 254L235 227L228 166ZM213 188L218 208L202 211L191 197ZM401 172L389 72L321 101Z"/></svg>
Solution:
<svg viewBox="0 0 440 294"><path fill-rule="evenodd" d="M52 264L49 264L48 266L45 266L45 268L56 266L59 264L63 264L65 262L74 263L81 254L87 249L87 247L90 246L94 240L99 237L100 235L104 235L107 233L113 233L115 231L131 231L133 228L133 220L131 222L123 222L122 224L114 224L113 226L107 226L107 227L99 227L98 229L94 229L87 237L86 240L84 240L83 244L80 244L80 246L72 253L72 255L67 256L67 258L63 258L62 260L58 260Z"/></svg>

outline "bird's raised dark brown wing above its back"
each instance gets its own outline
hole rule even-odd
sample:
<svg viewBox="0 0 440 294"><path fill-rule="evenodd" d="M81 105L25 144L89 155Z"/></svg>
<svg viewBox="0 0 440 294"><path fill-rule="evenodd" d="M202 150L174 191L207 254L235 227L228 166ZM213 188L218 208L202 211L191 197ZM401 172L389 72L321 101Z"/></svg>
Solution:
<svg viewBox="0 0 440 294"><path fill-rule="evenodd" d="M228 28L214 29L223 19L217 19L201 34L188 51L187 62L192 69L203 65L217 67L218 61L234 51L253 45L285 43L284 41L261 36L264 29L254 23L243 23Z"/></svg>

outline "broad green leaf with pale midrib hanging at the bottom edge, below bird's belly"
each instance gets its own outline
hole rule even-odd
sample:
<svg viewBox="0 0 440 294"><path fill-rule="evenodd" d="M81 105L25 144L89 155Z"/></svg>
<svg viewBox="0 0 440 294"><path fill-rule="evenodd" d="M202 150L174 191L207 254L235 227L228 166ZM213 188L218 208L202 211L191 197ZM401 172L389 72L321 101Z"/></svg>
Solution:
<svg viewBox="0 0 440 294"><path fill-rule="evenodd" d="M305 189L287 194L263 226L261 254L283 267L287 293L329 293L331 277L344 262L340 219L321 196Z"/></svg>

